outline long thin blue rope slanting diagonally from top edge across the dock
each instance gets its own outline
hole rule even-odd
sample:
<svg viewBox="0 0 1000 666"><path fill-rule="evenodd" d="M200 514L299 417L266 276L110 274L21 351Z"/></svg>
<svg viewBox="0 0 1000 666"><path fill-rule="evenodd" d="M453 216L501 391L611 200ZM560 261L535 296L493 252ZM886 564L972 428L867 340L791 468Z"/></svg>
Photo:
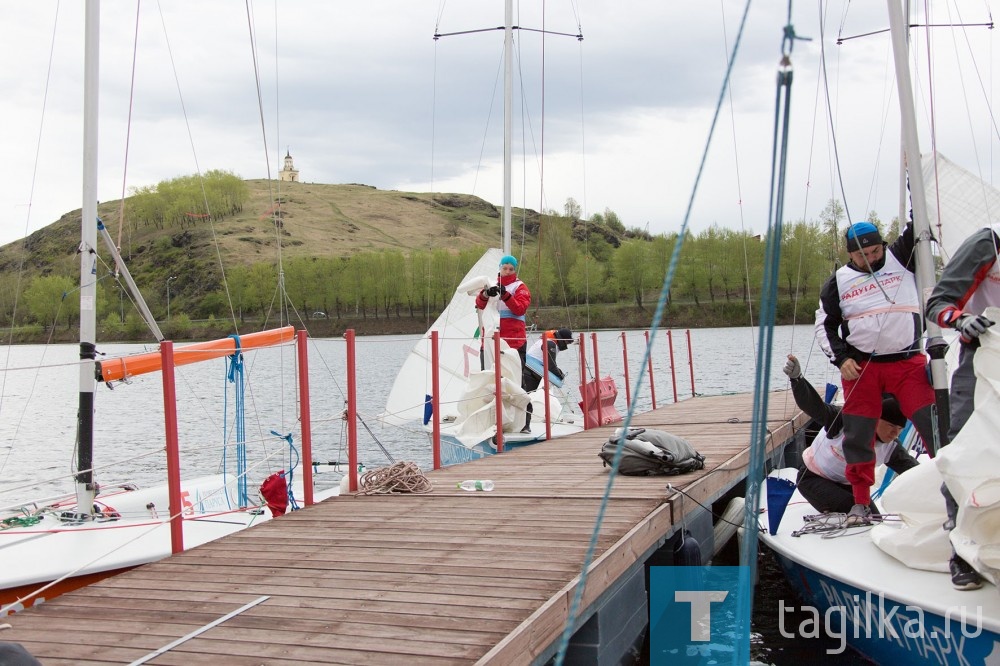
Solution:
<svg viewBox="0 0 1000 666"><path fill-rule="evenodd" d="M736 61L736 53L739 50L740 42L743 38L743 30L746 27L747 14L750 12L750 1L751 0L747 0L746 2L746 6L743 10L743 18L740 20L740 28L736 34L736 41L733 43L732 56L729 58L729 63L726 67L726 75L722 81L722 90L719 91L719 98L716 101L715 114L712 116L712 124L708 131L708 140L705 142L705 150L701 156L701 163L698 165L698 173L695 177L694 187L691 189L691 197L688 199L687 209L684 212L684 221L677 234L677 243L674 245L674 251L670 255L670 264L667 268L667 275L663 280L663 288L660 290L660 297L656 304L656 311L653 314L652 325L650 326L649 343L646 345L646 350L643 353L642 365L640 367L646 367L649 363L653 342L656 340L656 334L659 330L660 322L663 320L663 313L666 310L670 288L673 285L674 275L677 272L677 264L681 254L681 248L684 245L684 238L687 235L688 223L691 219L691 209L694 206L695 194L698 192L698 184L701 182L701 175L705 170L705 162L708 160L708 150L712 144L712 136L715 134L715 126L718 123L719 114L722 110L722 104L726 96L726 90L729 87L729 79L733 71L733 63ZM569 617L566 619L566 626L563 627L562 637L559 641L559 651L556 653L556 666L562 666L563 661L566 658L566 651L569 648L570 638L573 636L576 616L580 609L580 600L583 597L583 590L587 586L587 570L590 568L590 563L594 558L594 551L597 548L597 537L601 530L601 524L604 522L604 514L607 512L608 503L611 498L611 488L614 486L615 478L618 476L618 464L621 461L622 448L625 442L624 435L628 432L629 425L632 422L632 416L635 414L636 403L639 399L639 392L642 388L642 383L643 373L639 373L639 376L635 381L635 389L632 391L632 401L629 403L628 412L625 414L625 420L622 422L622 437L618 439L618 446L615 448L615 456L611 462L611 472L608 475L608 483L604 488L604 496L601 499L601 508L597 513L594 531L590 535L590 543L587 546L587 553L584 556L583 567L580 571L580 582L577 584L576 591L573 594L573 603L570 605ZM747 663L747 661L744 660L743 663Z"/></svg>

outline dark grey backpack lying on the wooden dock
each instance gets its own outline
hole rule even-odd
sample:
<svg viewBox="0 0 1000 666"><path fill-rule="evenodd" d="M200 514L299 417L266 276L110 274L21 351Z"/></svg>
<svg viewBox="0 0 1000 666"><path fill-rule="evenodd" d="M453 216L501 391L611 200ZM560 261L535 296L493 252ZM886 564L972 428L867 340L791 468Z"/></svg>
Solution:
<svg viewBox="0 0 1000 666"><path fill-rule="evenodd" d="M597 454L605 465L611 466L614 461L620 438L621 429L615 431ZM705 456L687 441L663 430L646 428L629 428L618 462L618 472L626 476L672 476L704 467Z"/></svg>

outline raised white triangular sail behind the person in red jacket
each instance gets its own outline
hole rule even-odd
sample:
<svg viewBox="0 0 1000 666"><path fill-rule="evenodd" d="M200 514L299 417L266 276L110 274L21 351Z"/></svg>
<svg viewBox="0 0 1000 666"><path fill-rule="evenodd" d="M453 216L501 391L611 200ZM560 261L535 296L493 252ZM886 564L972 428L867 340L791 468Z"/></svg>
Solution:
<svg viewBox="0 0 1000 666"><path fill-rule="evenodd" d="M484 342L479 330L480 317L483 330L492 331L497 326L499 315L494 307L477 311L476 294L483 286L496 283L497 266L502 256L503 252L497 248L483 254L466 273L448 307L428 329L427 335L413 346L389 391L382 414L384 421L402 425L423 418L425 396L433 392L432 331L438 332L440 404L445 414L454 411L454 405L468 387L470 374L482 369L481 351L486 367L492 367L492 345Z"/></svg>

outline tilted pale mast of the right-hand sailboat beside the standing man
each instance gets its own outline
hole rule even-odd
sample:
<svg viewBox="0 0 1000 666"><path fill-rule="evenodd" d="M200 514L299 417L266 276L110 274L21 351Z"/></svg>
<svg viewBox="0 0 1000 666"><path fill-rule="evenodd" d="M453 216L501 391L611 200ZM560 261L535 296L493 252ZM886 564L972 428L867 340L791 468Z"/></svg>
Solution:
<svg viewBox="0 0 1000 666"><path fill-rule="evenodd" d="M927 311L927 296L935 283L934 259L931 256L931 229L927 218L927 195L924 191L920 166L920 142L917 138L917 119L913 110L913 84L907 61L906 22L900 0L886 0L889 9L889 31L892 36L892 55L896 65L896 86L899 92L899 110L903 136L903 155L910 175L910 206L913 209L913 234L916 239L917 292L920 294L920 313ZM902 223L902 220L900 220ZM944 352L946 345L941 337L941 327L925 321L927 327L927 353L931 357L931 380L938 404L938 432L948 432L948 379ZM939 442L925 442L933 450Z"/></svg>

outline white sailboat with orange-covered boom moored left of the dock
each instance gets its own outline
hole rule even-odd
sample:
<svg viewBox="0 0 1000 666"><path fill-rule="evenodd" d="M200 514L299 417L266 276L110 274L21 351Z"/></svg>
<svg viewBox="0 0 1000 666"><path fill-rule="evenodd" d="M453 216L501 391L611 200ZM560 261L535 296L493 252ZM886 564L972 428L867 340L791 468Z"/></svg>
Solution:
<svg viewBox="0 0 1000 666"><path fill-rule="evenodd" d="M181 479L177 467L176 404L172 393L174 365L228 356L241 363L243 354L268 345L290 344L291 326L196 343L174 349L163 340L141 294L117 255L103 224L97 217L97 129L98 129L98 39L100 10L97 0L86 5L86 55L84 92L83 205L80 248L80 363L72 372L79 381L75 491L0 508L0 616L44 602L58 594L87 585L129 568L155 561L184 548L191 548L270 520L283 512L288 501L288 472L272 474L265 503L251 499L245 465L237 471ZM134 357L97 360L96 301L98 234L101 234L123 269L125 282L139 308L161 342L161 351ZM304 337L302 337L304 340ZM171 362L171 355L173 360ZM167 359L164 363L161 358ZM165 381L164 407L167 432L169 482L161 487L138 490L133 485L102 489L94 469L95 390L99 382L126 380L138 374L162 371ZM307 386L307 385L306 385ZM308 399L308 392L305 393ZM288 435L291 446L291 435ZM171 442L170 440L174 441ZM237 450L240 445L237 444ZM245 453L245 450L243 451ZM303 475L308 477L308 472ZM339 488L318 493L315 498L308 478L298 488L307 502L336 494ZM283 496L284 494L284 496ZM268 507L273 510L268 511Z"/></svg>

